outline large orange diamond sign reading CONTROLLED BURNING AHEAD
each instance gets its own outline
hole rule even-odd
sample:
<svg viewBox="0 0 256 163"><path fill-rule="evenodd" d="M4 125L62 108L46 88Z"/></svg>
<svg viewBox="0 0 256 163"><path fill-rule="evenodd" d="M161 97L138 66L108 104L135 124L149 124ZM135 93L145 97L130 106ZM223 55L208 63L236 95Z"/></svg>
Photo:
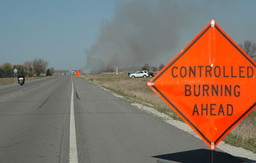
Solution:
<svg viewBox="0 0 256 163"><path fill-rule="evenodd" d="M211 148L256 106L256 63L211 21L148 86Z"/></svg>

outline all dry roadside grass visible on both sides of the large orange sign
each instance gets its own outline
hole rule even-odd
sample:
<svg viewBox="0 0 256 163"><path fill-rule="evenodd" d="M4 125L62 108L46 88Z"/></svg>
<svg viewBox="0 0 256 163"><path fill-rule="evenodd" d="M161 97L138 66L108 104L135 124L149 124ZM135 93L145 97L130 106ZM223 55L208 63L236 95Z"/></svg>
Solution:
<svg viewBox="0 0 256 163"><path fill-rule="evenodd" d="M86 81L99 84L113 92L125 96L129 100L135 100L156 108L173 119L181 120L165 102L162 101L148 86L150 78L129 79L127 73L86 74L81 76ZM256 110L238 124L224 139L233 146L241 146L256 153Z"/></svg>

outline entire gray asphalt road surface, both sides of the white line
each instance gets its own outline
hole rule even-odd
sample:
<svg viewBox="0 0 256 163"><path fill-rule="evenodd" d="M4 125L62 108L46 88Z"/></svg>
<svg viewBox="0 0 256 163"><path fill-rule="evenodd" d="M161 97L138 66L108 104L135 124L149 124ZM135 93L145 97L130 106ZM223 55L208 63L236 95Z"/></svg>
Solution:
<svg viewBox="0 0 256 163"><path fill-rule="evenodd" d="M0 87L0 162L75 162L72 131L80 163L211 162L202 140L76 76ZM222 151L214 158L241 162Z"/></svg>

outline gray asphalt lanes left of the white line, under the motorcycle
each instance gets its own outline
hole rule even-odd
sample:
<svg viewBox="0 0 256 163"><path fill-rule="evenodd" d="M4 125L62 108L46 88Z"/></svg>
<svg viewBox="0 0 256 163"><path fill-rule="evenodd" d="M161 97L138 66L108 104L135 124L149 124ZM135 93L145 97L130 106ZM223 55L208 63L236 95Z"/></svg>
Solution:
<svg viewBox="0 0 256 163"><path fill-rule="evenodd" d="M67 162L70 76L0 90L0 162Z"/></svg>

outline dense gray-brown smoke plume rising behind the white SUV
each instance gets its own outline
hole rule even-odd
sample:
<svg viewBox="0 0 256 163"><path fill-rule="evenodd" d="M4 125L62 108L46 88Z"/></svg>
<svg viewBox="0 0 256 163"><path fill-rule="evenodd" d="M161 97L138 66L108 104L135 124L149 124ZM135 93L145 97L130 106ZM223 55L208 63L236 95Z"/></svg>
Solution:
<svg viewBox="0 0 256 163"><path fill-rule="evenodd" d="M101 25L91 49L86 50L86 73L109 68L159 65L171 58L189 14L189 5L169 0L132 1L116 5L113 20Z"/></svg>

